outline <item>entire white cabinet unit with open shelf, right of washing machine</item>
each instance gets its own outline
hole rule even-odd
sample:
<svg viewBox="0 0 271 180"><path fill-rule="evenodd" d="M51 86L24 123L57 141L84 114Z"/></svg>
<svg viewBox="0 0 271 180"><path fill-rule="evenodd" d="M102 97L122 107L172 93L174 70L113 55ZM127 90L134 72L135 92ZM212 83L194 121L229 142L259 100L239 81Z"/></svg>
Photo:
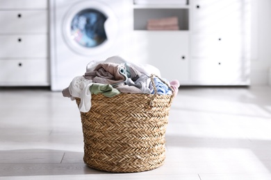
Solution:
<svg viewBox="0 0 271 180"><path fill-rule="evenodd" d="M250 0L134 4L133 56L182 85L249 85L249 13ZM172 16L179 30L146 29L148 19Z"/></svg>

